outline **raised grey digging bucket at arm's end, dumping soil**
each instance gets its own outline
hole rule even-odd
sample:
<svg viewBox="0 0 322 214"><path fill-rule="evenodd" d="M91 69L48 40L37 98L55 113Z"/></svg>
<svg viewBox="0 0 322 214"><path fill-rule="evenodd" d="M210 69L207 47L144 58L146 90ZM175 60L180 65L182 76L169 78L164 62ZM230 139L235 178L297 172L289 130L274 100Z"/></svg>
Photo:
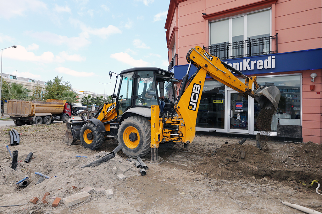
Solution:
<svg viewBox="0 0 322 214"><path fill-rule="evenodd" d="M279 105L279 98L281 96L281 93L279 89L274 85L269 87L260 86L260 88L255 91L255 96L255 100L260 104L260 107L274 107L276 110Z"/></svg>

